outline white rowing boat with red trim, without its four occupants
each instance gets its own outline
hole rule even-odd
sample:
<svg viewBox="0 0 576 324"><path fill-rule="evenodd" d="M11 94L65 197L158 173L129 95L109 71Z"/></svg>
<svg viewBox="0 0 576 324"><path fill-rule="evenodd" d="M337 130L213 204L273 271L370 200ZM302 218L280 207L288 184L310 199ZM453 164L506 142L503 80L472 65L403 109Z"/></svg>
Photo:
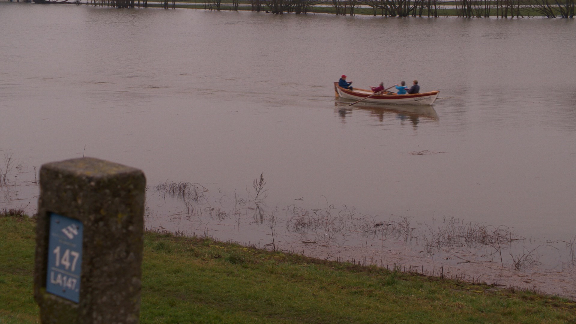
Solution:
<svg viewBox="0 0 576 324"><path fill-rule="evenodd" d="M354 90L344 89L342 86L338 85L338 82L334 82L334 89L336 91L336 96L344 99L350 100L361 100L368 96L363 102L366 103L380 103L380 104L433 104L438 97L439 91L429 91L423 93L414 93L412 95L374 95L374 91L366 89L354 88Z"/></svg>

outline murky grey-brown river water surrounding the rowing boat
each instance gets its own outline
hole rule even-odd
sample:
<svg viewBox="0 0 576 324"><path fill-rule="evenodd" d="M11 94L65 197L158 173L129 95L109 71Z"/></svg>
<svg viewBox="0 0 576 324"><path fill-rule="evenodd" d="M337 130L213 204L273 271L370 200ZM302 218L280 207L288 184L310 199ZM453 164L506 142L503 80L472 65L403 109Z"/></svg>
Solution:
<svg viewBox="0 0 576 324"><path fill-rule="evenodd" d="M573 20L14 2L0 2L0 20L0 159L16 161L0 208L33 210L35 167L85 154L142 168L151 186L209 190L192 204L151 187L152 228L267 247L274 231L278 248L318 257L469 276L482 265L494 268L482 270L486 281L574 287ZM417 78L441 94L434 107L351 108L334 99L340 74L361 88ZM262 217L252 188L261 173ZM296 231L290 222L305 211L329 216ZM503 262L490 244L429 251L426 225L453 218L526 240ZM407 242L374 228L406 219Z"/></svg>

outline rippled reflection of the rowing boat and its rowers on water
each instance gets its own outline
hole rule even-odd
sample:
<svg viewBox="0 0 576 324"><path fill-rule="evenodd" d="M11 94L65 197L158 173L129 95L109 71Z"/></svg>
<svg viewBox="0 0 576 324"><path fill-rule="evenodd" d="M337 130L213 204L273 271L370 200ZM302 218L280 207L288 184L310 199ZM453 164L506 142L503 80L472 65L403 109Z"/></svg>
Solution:
<svg viewBox="0 0 576 324"><path fill-rule="evenodd" d="M335 102L336 112L340 116L342 122L346 121L346 118L350 118L353 111L369 111L370 116L374 116L383 122L384 119L391 119L394 117L404 123L409 120L414 127L420 122L420 118L424 118L430 121L438 120L438 114L432 108L432 106L422 106L422 105L393 105L393 104L362 104L358 103L352 107L348 107L350 103L345 102Z"/></svg>

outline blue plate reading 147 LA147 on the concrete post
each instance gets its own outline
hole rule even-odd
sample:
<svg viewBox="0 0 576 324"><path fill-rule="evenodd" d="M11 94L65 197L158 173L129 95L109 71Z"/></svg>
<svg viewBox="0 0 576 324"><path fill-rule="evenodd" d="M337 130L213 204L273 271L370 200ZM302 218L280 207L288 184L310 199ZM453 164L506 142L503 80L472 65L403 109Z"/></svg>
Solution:
<svg viewBox="0 0 576 324"><path fill-rule="evenodd" d="M50 213L46 291L78 303L82 265L82 222Z"/></svg>

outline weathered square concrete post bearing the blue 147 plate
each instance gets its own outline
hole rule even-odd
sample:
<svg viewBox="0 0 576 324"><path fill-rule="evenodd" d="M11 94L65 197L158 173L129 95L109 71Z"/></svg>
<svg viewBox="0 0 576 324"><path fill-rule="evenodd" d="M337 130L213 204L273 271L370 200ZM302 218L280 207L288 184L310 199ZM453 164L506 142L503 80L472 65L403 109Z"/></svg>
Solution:
<svg viewBox="0 0 576 324"><path fill-rule="evenodd" d="M42 165L34 295L43 324L139 322L146 179L82 158Z"/></svg>

